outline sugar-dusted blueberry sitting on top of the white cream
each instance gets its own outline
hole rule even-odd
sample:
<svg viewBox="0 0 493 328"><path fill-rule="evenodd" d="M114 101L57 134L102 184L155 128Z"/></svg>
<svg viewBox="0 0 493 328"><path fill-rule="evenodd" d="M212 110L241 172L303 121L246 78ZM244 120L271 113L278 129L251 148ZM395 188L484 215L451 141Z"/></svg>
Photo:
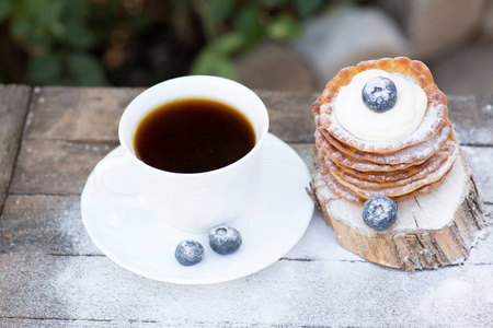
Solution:
<svg viewBox="0 0 493 328"><path fill-rule="evenodd" d="M376 77L366 82L362 90L362 97L369 109L376 113L385 113L395 106L397 87L392 80Z"/></svg>

